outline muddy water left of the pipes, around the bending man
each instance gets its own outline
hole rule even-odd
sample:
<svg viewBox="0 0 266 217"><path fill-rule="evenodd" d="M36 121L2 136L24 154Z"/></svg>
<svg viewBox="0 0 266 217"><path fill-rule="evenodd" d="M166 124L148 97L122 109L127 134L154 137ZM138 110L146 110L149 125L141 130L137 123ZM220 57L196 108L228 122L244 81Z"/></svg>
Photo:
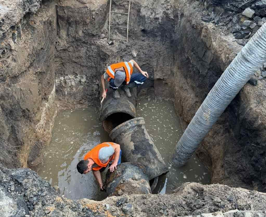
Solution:
<svg viewBox="0 0 266 217"><path fill-rule="evenodd" d="M99 122L98 108L60 111L55 119L50 145L45 149L39 175L69 199L106 197L92 172L80 174L76 165L95 145L110 141Z"/></svg>

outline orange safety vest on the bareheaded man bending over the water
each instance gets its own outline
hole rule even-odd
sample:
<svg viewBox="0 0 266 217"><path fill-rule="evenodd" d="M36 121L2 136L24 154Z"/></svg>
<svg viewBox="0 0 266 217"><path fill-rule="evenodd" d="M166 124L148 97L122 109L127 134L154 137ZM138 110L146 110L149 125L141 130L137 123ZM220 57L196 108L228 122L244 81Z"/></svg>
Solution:
<svg viewBox="0 0 266 217"><path fill-rule="evenodd" d="M88 158L91 158L95 164L99 165L97 167L93 167L92 169L93 170L99 170L103 167L106 167L108 165L108 163L111 161L111 160L114 160L115 158L115 155L113 154L112 157L109 158L109 160L103 164L100 159L99 159L99 151L101 148L103 147L107 147L107 146L110 146L110 145L114 145L115 143L112 143L112 142L104 142L104 143L101 143L99 145L96 145L92 150L90 150L85 156L84 156L84 160L88 160Z"/></svg>

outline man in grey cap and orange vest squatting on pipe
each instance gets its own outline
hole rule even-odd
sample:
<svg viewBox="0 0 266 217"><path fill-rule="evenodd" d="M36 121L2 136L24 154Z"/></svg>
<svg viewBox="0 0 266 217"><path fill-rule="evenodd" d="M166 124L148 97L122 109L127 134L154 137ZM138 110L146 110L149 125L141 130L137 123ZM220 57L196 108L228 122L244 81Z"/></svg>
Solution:
<svg viewBox="0 0 266 217"><path fill-rule="evenodd" d="M135 66L140 73L133 73L133 66ZM126 93L127 97L131 97L130 88L142 85L143 82L149 78L147 72L140 69L139 65L134 61L129 62L119 62L108 66L106 72L101 77L103 93L102 97L106 97L105 91L105 80L109 81L109 87L113 89L113 97L119 99L120 95L118 92L118 87L122 86L122 89Z"/></svg>

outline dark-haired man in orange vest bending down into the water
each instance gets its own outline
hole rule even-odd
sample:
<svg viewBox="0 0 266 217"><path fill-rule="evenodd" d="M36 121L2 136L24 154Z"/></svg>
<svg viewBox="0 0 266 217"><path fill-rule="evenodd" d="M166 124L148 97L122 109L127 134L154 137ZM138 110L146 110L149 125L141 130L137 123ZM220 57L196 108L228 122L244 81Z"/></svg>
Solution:
<svg viewBox="0 0 266 217"><path fill-rule="evenodd" d="M77 170L81 174L86 174L92 170L100 189L103 190L101 173L108 163L111 163L109 169L113 172L117 165L121 163L120 145L112 142L104 142L96 145L77 164Z"/></svg>

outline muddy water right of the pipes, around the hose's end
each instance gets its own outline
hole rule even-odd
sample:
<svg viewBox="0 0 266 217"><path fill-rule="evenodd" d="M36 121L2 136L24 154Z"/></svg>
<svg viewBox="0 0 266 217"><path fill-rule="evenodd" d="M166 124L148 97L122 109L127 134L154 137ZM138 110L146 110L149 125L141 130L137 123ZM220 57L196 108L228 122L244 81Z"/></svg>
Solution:
<svg viewBox="0 0 266 217"><path fill-rule="evenodd" d="M147 97L138 101L136 113L145 119L146 129L169 169L169 173L159 179L153 193L171 193L184 182L210 183L210 172L196 155L182 168L175 168L169 162L169 156L183 133L172 101L155 101Z"/></svg>

